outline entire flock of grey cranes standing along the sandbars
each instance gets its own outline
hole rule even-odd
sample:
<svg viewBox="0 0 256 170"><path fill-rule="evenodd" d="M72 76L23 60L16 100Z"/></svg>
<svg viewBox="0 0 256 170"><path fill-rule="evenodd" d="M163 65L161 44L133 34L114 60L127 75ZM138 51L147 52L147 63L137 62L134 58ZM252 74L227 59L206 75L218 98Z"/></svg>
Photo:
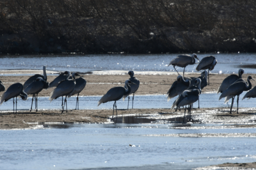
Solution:
<svg viewBox="0 0 256 170"><path fill-rule="evenodd" d="M183 76L178 73L177 80L173 82L171 88L168 90L166 97L168 97L168 101L171 98L176 98L173 102L171 109L180 108L185 106L184 111L184 119L186 108L188 106L188 120L191 119L191 108L192 104L198 100L198 108L199 105L199 96L202 92L202 89L209 85L209 71L214 69L214 66L217 64L217 60L214 56L204 57L198 66L196 67L197 71L204 70L199 77L184 77L184 71L186 66L195 64L197 58L196 54L190 55L178 55L175 59L173 59L170 64L174 67L180 66L184 67ZM207 71L208 69L208 71ZM176 70L177 71L177 70ZM178 72L178 71L177 71ZM49 100L55 100L59 97L62 97L62 113L64 112L64 107L66 105L66 112L68 112L67 108L67 97L76 95L76 107L79 109L79 93L84 89L86 86L86 80L82 78L76 72L73 72L72 75L70 71L63 72L59 76L57 76L50 84L47 82L47 75L46 75L46 66L43 66L43 73L35 74L26 80L26 82L22 85L20 83L12 84L4 94L0 97L0 104L2 105L3 102L8 101L9 99L13 98L13 111L14 111L14 98L16 97L16 113L17 113L17 98L22 98L22 100L27 100L28 95L32 95L32 104L30 111L32 111L33 100L35 100L35 109L38 111L38 93L40 93L43 89L47 88L54 88L54 90L50 93ZM238 75L232 74L226 77L220 87L218 88L218 93L221 93L220 99L225 98L225 103L228 102L230 98L232 98L232 105L230 108L230 113L232 113L232 106L234 103L234 98L237 96L237 113L238 113L238 101L239 96L244 91L248 91L252 88L252 84L250 80L254 80L252 76L248 76L247 82L242 79L242 74L244 70L241 68L238 71ZM140 80L134 77L134 71L130 70L128 72L130 78L125 81L124 87L117 86L113 87L108 92L102 96L100 101L98 102L98 106L102 103L114 101L113 105L113 114L112 118L114 117L114 107L116 107L116 101L120 100L121 98L124 100L127 96L130 99L130 95L133 94L132 97L132 108L134 102L134 94L138 90L140 86ZM76 76L80 76L76 78ZM208 78L208 80L207 80ZM4 91L5 87L0 81L0 92ZM63 104L63 98L64 104ZM246 95L242 98L255 98L256 97L256 87L252 90L248 91ZM129 107L129 100L128 100L128 107ZM116 107L116 115L117 115L117 107Z"/></svg>

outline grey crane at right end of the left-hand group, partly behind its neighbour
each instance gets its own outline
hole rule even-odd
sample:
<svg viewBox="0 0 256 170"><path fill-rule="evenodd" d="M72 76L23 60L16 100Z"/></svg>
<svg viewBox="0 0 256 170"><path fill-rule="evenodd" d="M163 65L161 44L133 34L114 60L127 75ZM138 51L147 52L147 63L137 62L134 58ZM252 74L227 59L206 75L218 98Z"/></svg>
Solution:
<svg viewBox="0 0 256 170"><path fill-rule="evenodd" d="M82 78L81 76L79 78L76 78L75 76L80 76L80 75L77 74L76 72L72 73L72 78L74 80L76 80L76 86L75 86L75 89L72 92L71 96L77 94L76 105L77 105L77 109L79 110L79 105L78 105L78 100L79 99L78 99L78 96L79 96L79 93L84 89L84 87L86 85L86 80L84 78Z"/></svg>

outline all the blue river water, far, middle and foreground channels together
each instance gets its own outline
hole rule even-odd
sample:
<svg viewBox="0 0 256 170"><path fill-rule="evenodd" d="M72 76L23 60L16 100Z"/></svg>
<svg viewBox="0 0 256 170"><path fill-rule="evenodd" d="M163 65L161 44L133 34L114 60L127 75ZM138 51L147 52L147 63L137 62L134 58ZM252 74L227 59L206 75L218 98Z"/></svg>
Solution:
<svg viewBox="0 0 256 170"><path fill-rule="evenodd" d="M0 56L0 70L42 70L46 65L47 70L52 71L102 70L103 74L112 74L115 70L122 74L135 70L175 74L173 67L167 66L177 55L7 55ZM237 73L243 64L256 64L256 54L252 53L198 54L198 58L208 55L214 55L218 61L213 73ZM186 72L196 72L195 68L196 64L189 65ZM183 68L177 67L177 70L182 72ZM256 69L244 70L256 73ZM200 107L226 107L224 99L218 101L219 96L201 94ZM244 94L240 98L242 96ZM112 102L97 107L100 97L81 96L80 109L112 109ZM212 104L212 100L216 102ZM167 102L164 95L136 95L134 108L170 108L173 101ZM30 109L30 104L31 97L27 101L19 100L18 109ZM75 104L76 97L68 99L68 109L74 109ZM60 105L60 98L51 103L46 97L38 98L39 109L60 109ZM239 102L240 107L254 105L253 99ZM196 102L194 107L197 106ZM127 99L118 101L117 107L125 109ZM0 109L11 110L12 100L4 102ZM132 123L125 120L126 117L118 117L116 124L44 124L27 130L0 130L0 170L191 170L225 162L256 161L256 128L200 122L161 123L145 121L145 117L136 118ZM206 137L201 137L202 134Z"/></svg>

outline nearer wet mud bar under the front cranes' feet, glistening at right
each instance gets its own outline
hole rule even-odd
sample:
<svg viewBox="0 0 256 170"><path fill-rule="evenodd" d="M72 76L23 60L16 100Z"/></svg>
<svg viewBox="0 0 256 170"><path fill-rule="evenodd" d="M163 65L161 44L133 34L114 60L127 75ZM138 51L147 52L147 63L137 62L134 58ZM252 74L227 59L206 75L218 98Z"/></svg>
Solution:
<svg viewBox="0 0 256 170"><path fill-rule="evenodd" d="M98 110L68 110L68 113L61 113L62 110L40 110L38 112L18 111L17 114L0 112L0 129L29 128L44 123L114 123L112 121L112 109ZM159 119L165 117L181 117L183 123L184 109L174 112L170 109L118 109L118 116L121 115L161 115ZM207 117L207 119L205 118ZM218 123L228 124L230 128L254 128L256 127L256 111L252 108L243 109L239 114L229 113L229 109L193 109L192 119L197 119L198 123ZM142 122L143 123L143 122ZM166 123L166 122L163 122ZM170 122L169 122L170 123ZM186 127L185 127L186 128Z"/></svg>

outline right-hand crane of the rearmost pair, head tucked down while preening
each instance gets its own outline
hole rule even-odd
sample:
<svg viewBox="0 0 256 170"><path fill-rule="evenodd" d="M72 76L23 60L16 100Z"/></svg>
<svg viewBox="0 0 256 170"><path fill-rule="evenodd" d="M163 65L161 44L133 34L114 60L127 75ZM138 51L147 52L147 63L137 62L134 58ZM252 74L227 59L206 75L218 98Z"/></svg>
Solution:
<svg viewBox="0 0 256 170"><path fill-rule="evenodd" d="M198 66L196 67L197 71L200 70L207 70L208 69L208 85L210 85L210 81L209 81L209 77L210 77L210 72L209 70L213 70L214 66L217 64L217 60L214 56L207 56L204 57L200 63L198 64Z"/></svg>

